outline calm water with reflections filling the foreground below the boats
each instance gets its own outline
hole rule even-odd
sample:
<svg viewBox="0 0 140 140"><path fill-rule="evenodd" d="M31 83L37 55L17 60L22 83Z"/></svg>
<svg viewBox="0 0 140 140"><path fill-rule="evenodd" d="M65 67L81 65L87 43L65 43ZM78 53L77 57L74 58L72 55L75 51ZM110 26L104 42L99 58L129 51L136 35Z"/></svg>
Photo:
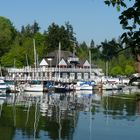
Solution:
<svg viewBox="0 0 140 140"><path fill-rule="evenodd" d="M0 99L0 140L139 140L140 101L108 94L22 93Z"/></svg>

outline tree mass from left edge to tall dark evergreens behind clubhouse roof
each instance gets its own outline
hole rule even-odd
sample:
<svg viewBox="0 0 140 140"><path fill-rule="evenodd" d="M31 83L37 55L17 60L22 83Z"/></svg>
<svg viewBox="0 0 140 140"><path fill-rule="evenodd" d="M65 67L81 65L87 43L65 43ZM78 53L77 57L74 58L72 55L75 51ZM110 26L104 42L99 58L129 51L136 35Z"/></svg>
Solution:
<svg viewBox="0 0 140 140"><path fill-rule="evenodd" d="M78 44L73 27L69 22L66 22L65 26L52 23L47 31L41 33L39 24L36 21L32 25L22 26L21 31L16 31L12 28L13 26L10 20L1 19L8 23L6 26L2 26L5 23L0 23L0 29L3 31L0 32L0 57L2 66L13 66L14 59L16 59L16 67L26 66L27 58L28 64L32 66L34 64L33 39L35 39L39 61L43 57L46 57L50 51L58 49L59 42L62 45L61 49L68 51L73 51L75 45Z"/></svg>

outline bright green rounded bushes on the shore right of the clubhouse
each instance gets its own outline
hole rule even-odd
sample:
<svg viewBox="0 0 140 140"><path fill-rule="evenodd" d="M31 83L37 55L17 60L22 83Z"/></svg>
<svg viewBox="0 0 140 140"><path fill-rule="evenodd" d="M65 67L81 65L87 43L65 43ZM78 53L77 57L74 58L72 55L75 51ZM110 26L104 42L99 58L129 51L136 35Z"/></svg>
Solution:
<svg viewBox="0 0 140 140"><path fill-rule="evenodd" d="M104 60L102 59L102 57L99 58L100 60L97 60L95 62L96 64L98 64L100 68L103 69L104 73L106 73L106 65L105 65L106 59ZM128 66L130 69L128 68ZM119 67L120 70L119 68L116 67ZM133 57L131 56L131 53L128 50L121 51L121 53L118 53L118 55L110 59L108 68L109 68L109 75L112 76L117 76L120 74L129 76L130 74L135 73L134 60Z"/></svg>

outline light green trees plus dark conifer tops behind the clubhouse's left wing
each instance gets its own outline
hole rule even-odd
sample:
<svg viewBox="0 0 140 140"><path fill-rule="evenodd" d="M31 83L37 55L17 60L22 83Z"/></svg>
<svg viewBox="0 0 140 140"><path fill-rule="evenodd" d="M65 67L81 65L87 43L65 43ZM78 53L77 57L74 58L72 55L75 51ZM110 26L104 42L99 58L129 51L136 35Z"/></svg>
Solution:
<svg viewBox="0 0 140 140"><path fill-rule="evenodd" d="M36 50L40 60L43 56L45 41L39 29L38 23L34 22L33 25L22 26L21 31L16 31L15 39L9 44L11 47L1 57L1 65L13 67L15 60L16 67L23 67L27 65L28 59L28 64L32 66L34 64L33 39L36 40Z"/></svg>

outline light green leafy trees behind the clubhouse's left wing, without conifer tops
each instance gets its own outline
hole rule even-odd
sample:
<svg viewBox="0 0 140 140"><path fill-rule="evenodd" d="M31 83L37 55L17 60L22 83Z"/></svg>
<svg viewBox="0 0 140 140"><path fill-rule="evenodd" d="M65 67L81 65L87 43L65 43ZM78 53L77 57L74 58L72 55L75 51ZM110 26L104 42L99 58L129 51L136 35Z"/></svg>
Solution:
<svg viewBox="0 0 140 140"><path fill-rule="evenodd" d="M39 61L41 61L43 52L44 52L44 38L37 33L34 38L36 39L36 50L39 57ZM21 43L22 42L22 43ZM22 45L20 45L20 43ZM5 67L13 67L14 66L14 59L16 60L15 66L16 67L23 67L28 64L30 66L34 63L34 52L33 52L33 39L26 37L23 39L17 38L13 44L13 47L10 49L8 53L6 53L1 58L1 64Z"/></svg>

